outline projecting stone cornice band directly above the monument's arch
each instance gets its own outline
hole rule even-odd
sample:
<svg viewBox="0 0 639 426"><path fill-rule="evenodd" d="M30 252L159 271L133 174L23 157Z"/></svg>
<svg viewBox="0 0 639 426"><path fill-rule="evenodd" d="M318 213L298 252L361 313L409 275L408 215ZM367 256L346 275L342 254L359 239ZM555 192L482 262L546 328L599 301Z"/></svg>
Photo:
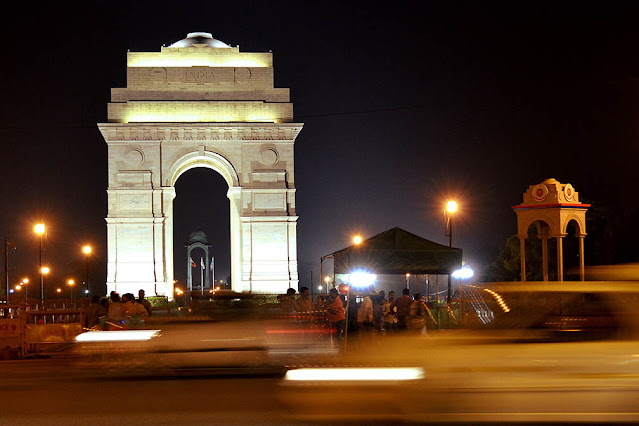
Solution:
<svg viewBox="0 0 639 426"><path fill-rule="evenodd" d="M111 141L293 141L301 123L100 123Z"/></svg>

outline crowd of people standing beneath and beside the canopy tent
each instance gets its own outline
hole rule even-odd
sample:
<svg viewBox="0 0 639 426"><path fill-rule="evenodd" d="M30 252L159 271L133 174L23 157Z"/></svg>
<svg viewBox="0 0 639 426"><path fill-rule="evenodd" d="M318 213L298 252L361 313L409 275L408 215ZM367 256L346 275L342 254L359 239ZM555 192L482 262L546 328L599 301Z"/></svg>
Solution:
<svg viewBox="0 0 639 426"><path fill-rule="evenodd" d="M344 295L340 295L335 288L331 289L326 300L318 296L313 303L307 287L300 288L300 294L296 298L295 289L289 288L286 296L280 301L280 308L285 315L299 315L304 313L325 313L335 330L338 341L341 341L347 327L347 306L349 315L356 317L356 328L360 336L374 334L388 334L407 332L425 335L428 320L437 325L424 297L417 293L413 297L408 289L402 291L402 295L396 298L394 291L388 293L379 291L376 294L364 295L361 302L346 303ZM354 318L348 321L355 322ZM350 330L350 328L349 328Z"/></svg>

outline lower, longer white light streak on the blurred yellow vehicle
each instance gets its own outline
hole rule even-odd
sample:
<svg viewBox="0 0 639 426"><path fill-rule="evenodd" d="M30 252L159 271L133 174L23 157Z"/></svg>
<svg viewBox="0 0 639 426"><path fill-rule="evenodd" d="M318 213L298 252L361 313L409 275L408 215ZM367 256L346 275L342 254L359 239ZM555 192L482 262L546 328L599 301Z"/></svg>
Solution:
<svg viewBox="0 0 639 426"><path fill-rule="evenodd" d="M286 373L292 381L404 381L424 378L421 368L300 368Z"/></svg>

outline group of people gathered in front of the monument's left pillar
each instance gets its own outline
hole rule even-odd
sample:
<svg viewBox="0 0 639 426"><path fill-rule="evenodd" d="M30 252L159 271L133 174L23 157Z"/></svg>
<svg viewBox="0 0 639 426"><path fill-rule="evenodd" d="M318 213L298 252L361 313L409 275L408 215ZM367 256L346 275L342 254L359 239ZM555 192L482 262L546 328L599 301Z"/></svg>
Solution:
<svg viewBox="0 0 639 426"><path fill-rule="evenodd" d="M152 314L151 303L145 299L144 290L136 299L132 293L120 296L112 291L108 298L93 296L91 304L84 311L87 329L118 330L143 324Z"/></svg>

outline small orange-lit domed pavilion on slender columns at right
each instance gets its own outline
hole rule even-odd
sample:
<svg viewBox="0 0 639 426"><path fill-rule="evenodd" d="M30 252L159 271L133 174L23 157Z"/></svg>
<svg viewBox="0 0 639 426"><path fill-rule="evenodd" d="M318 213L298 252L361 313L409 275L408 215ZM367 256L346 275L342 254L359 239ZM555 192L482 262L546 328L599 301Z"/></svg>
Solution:
<svg viewBox="0 0 639 426"><path fill-rule="evenodd" d="M563 238L567 235L568 224L577 225L579 238L579 276L584 281L584 237L586 236L586 211L590 204L579 202L579 193L571 184L560 183L556 179L546 179L540 184L530 185L524 192L524 200L512 209L517 215L517 236L521 255L521 280L526 281L526 238L528 228L537 226L542 240L543 280L548 281L548 238L557 239L557 280L564 279Z"/></svg>

